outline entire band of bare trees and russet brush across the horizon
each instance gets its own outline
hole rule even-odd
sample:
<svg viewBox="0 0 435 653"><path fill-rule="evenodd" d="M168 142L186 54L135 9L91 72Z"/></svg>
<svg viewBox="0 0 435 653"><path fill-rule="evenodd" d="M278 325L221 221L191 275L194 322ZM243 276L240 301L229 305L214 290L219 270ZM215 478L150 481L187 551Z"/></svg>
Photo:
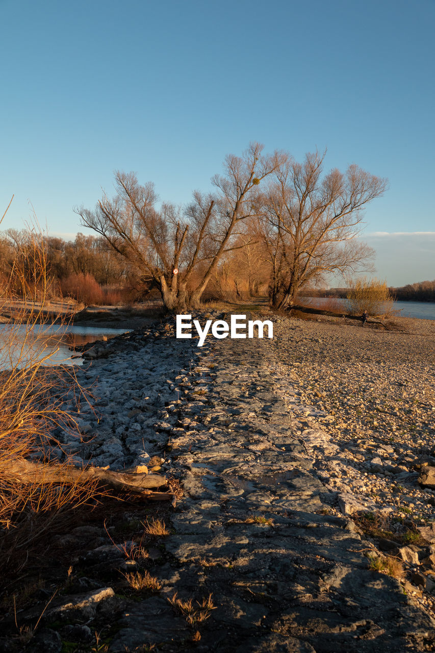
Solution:
<svg viewBox="0 0 435 653"><path fill-rule="evenodd" d="M357 240L363 210L387 180L357 165L323 172L325 152L297 163L283 151L262 154L251 143L241 157L228 155L214 193L195 191L191 202L157 206L153 183L133 172L115 173L116 195L95 209L74 210L96 236L44 240L50 293L86 304L117 304L161 297L165 308L199 306L201 299L266 295L276 308L318 294L330 274L349 279L371 272L375 252ZM0 275L18 257L25 269L28 231L0 237ZM29 265L29 270L31 265ZM175 272L178 270L178 272ZM398 299L435 300L435 281L391 289ZM340 296L340 290L322 291Z"/></svg>

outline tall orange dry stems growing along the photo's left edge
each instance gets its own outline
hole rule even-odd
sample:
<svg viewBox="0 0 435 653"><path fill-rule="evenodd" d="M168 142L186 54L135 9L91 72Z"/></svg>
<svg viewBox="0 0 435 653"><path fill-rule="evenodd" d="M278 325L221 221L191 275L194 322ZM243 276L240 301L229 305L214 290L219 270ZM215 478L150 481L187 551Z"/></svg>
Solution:
<svg viewBox="0 0 435 653"><path fill-rule="evenodd" d="M52 355L44 313L48 286L44 240L31 232L2 293L3 304L20 300L14 323L1 333L0 350L0 568L9 573L25 566L32 548L54 532L67 510L88 504L96 492L95 483L54 485L44 478L53 428L79 436L76 422L61 409L63 397L71 387L86 397L72 370L60 375L44 367ZM31 457L40 460L40 477L22 483L13 475L14 461Z"/></svg>

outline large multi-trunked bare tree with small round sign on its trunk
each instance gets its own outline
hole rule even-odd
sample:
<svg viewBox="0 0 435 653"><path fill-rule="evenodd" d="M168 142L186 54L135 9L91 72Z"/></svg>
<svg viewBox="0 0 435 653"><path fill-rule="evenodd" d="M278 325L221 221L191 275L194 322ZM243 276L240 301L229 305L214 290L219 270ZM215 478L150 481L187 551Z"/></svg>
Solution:
<svg viewBox="0 0 435 653"><path fill-rule="evenodd" d="M94 211L76 212L82 225L104 236L158 287L166 308L197 306L223 255L238 246L237 226L257 215L262 180L285 160L262 150L251 143L242 157L228 155L224 174L212 178L216 193L195 192L184 211L172 204L157 210L152 183L140 185L135 174L116 172L116 197L103 195Z"/></svg>

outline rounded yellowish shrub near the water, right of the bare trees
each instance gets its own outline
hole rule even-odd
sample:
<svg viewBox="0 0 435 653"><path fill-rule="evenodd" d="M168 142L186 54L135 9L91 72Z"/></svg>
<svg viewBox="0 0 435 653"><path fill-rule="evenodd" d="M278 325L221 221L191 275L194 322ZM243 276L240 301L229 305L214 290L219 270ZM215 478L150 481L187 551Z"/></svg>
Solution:
<svg viewBox="0 0 435 653"><path fill-rule="evenodd" d="M393 297L385 279L357 279L355 286L347 293L349 311L360 315L389 315L393 312Z"/></svg>

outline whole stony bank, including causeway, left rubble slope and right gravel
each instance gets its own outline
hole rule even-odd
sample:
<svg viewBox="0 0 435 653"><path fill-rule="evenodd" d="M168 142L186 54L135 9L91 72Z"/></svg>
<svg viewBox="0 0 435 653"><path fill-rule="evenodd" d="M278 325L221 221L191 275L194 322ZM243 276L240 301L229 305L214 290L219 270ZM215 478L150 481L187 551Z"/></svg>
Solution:
<svg viewBox="0 0 435 653"><path fill-rule="evenodd" d="M56 536L52 584L45 580L42 588L58 586L61 596L47 607L44 630L28 650L47 650L50 640L58 647L52 650L68 641L75 643L71 650L90 651L95 630L114 653L145 645L204 653L431 650L430 542L409 541L411 562L391 566L401 559L406 537L430 524L430 513L418 520L403 513L408 523L401 517L400 528L383 536L390 543L385 558L379 537L364 535L361 519L346 514L357 500L373 515L395 509L387 460L405 468L395 487L412 510L404 498L419 492L415 458L406 460L412 441L402 441L404 454L395 450L400 439L386 443L389 416L375 411L378 424L369 421L366 392L376 401L378 385L387 394L391 377L400 374L400 383L409 377L409 387L396 387L407 407L421 411L411 390L431 380L430 333L376 331L328 318L272 319L274 340L208 338L200 349L195 340L177 341L168 322L89 351L90 365L78 370L82 383L93 387L90 406L76 415L82 441L59 432L62 449L77 464L154 464L184 496L175 509L110 507L105 526L95 519ZM364 417L349 392L358 379L369 389L359 396L359 406L370 406ZM327 387L330 403L315 394ZM65 407L72 409L72 400L66 397ZM412 426L404 414L403 424ZM433 424L425 421L418 437L429 442ZM354 422L348 438L346 425ZM65 455L60 447L57 454ZM364 488L355 485L360 473ZM388 490L385 505L365 490L376 483ZM433 493L423 494L430 500ZM153 517L165 521L167 534L144 528ZM133 586L128 573L143 582ZM155 582L143 580L146 573ZM33 623L44 605L29 609ZM16 618L19 625L32 620L25 609ZM12 631L12 611L7 623Z"/></svg>

